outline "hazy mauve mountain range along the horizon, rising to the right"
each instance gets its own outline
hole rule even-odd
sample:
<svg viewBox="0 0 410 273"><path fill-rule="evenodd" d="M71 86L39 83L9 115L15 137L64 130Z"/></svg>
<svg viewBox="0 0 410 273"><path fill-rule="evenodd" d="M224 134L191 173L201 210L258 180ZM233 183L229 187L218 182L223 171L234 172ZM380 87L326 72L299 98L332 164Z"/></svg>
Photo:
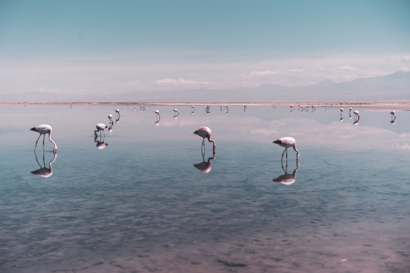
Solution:
<svg viewBox="0 0 410 273"><path fill-rule="evenodd" d="M0 102L96 102L92 95L29 92L2 95ZM410 72L306 86L264 84L256 88L225 90L130 92L99 95L98 102L408 102Z"/></svg>

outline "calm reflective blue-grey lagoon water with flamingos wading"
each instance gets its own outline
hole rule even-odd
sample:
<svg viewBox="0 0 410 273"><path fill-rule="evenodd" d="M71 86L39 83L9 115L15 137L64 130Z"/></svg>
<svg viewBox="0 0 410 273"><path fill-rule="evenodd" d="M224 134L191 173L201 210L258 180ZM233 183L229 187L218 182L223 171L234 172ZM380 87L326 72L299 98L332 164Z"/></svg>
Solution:
<svg viewBox="0 0 410 273"><path fill-rule="evenodd" d="M410 272L409 111L115 108L0 107L0 272Z"/></svg>

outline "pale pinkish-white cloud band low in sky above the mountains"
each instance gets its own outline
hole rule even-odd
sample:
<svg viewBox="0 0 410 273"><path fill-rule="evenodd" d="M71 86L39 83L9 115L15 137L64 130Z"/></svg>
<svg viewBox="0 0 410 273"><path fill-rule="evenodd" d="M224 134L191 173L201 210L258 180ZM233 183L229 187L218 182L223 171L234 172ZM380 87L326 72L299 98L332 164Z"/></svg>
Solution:
<svg viewBox="0 0 410 273"><path fill-rule="evenodd" d="M409 71L404 63L410 60L410 55L405 53L222 62L180 59L178 52L166 52L175 57L157 62L144 62L138 60L138 55L132 54L128 58L103 56L87 60L54 58L0 62L0 74L4 78L0 81L0 93L27 92L39 88L60 88L72 93L124 93L187 88L250 88L263 84L294 86L316 84L324 79L351 81Z"/></svg>

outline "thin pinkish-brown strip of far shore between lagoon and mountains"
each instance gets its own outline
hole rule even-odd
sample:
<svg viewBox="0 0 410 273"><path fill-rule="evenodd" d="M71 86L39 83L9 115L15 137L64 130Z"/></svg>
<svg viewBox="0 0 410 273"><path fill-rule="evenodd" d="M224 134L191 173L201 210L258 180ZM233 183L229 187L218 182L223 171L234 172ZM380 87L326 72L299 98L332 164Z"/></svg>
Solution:
<svg viewBox="0 0 410 273"><path fill-rule="evenodd" d="M0 105L152 105L152 106L316 106L316 107L371 107L410 109L410 102L0 102Z"/></svg>

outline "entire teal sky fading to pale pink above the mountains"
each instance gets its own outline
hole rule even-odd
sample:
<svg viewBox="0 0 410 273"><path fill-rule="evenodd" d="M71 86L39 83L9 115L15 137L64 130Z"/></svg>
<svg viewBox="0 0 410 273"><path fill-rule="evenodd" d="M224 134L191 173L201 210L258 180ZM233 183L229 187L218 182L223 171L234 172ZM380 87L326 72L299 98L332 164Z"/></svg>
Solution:
<svg viewBox="0 0 410 273"><path fill-rule="evenodd" d="M0 95L294 86L397 71L410 71L408 0L0 0Z"/></svg>

